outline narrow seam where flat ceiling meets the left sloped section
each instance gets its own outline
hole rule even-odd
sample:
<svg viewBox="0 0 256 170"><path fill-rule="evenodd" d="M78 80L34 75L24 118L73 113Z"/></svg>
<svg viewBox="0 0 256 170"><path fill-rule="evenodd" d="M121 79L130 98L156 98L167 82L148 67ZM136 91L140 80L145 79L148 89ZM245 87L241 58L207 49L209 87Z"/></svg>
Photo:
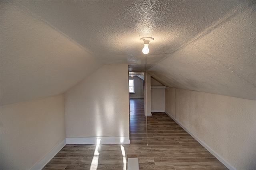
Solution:
<svg viewBox="0 0 256 170"><path fill-rule="evenodd" d="M2 3L2 1L1 1ZM47 20L45 20L44 18L42 18L41 16L39 16L38 14L35 14L34 12L30 11L26 6L24 6L22 3L16 1L15 3L18 4L18 10L28 16L31 16L33 18L35 18L38 21L42 21L43 23L45 23L48 27L54 29L56 32L60 33L60 35L63 35L64 37L66 37L67 39L69 39L72 43L74 43L75 45L77 45L80 49L84 50L85 52L89 53L90 55L92 55L93 57L93 53L92 51L90 51L89 49L86 49L85 47L83 47L82 45L80 45L79 43L77 43L76 41L74 41L73 39L71 39L68 35L66 35L65 33L63 33L62 31L60 31L58 28L54 27L51 23L49 23ZM102 63L102 61L100 61L99 59L95 58L97 61L99 61L100 63Z"/></svg>

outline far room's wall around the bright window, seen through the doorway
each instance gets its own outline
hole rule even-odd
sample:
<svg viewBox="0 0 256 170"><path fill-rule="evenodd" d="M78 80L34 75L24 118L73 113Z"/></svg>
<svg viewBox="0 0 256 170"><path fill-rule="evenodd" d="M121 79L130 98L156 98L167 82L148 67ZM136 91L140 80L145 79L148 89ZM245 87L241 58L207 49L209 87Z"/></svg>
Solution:
<svg viewBox="0 0 256 170"><path fill-rule="evenodd" d="M129 76L129 79L134 79L135 93L130 93L130 98L144 98L144 80L137 76Z"/></svg>

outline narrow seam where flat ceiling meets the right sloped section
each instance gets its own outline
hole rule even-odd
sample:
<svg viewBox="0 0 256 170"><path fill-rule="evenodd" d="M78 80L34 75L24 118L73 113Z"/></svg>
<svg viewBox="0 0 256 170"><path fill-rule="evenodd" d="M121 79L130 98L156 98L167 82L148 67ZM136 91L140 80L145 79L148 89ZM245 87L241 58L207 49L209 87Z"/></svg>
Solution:
<svg viewBox="0 0 256 170"><path fill-rule="evenodd" d="M159 60L158 62L152 64L152 66L150 66L148 68L148 70L150 68L152 68L153 66L155 66L156 64L160 63L161 61L163 61L164 59L170 57L173 53L184 49L186 46L190 45L191 43L193 43L194 41L197 41L198 39L201 39L202 37L204 37L205 35L211 33L214 29L218 28L220 25L223 25L224 23L226 23L228 20L230 20L231 18L233 18L234 16L239 15L241 12L243 12L246 8L251 8L256 4L256 2L250 2L249 5L245 4L242 6L236 6L236 8L234 8L230 13L228 13L227 15L223 16L222 18L220 18L218 21L212 23L208 28L206 28L204 31L202 31L201 33L199 33L196 37L194 37L193 39L191 39L190 41L188 41L187 43L184 43L182 46L180 46L178 49L172 51L172 53L168 53L169 56L166 56L164 58L162 58L161 60Z"/></svg>

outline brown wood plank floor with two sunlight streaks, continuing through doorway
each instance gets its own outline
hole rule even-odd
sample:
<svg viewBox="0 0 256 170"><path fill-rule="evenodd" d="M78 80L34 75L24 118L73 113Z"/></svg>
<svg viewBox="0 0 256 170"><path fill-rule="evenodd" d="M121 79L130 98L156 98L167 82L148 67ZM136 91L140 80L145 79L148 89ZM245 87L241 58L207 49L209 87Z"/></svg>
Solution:
<svg viewBox="0 0 256 170"><path fill-rule="evenodd" d="M140 170L228 170L165 113L148 116L144 99L130 99L130 144L66 145L44 170L126 170L137 157Z"/></svg>

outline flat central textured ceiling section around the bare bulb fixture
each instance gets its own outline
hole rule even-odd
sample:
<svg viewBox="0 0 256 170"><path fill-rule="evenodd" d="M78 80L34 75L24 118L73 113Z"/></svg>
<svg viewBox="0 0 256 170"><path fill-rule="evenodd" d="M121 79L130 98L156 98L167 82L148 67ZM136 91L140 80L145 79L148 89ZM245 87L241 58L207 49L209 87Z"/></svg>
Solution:
<svg viewBox="0 0 256 170"><path fill-rule="evenodd" d="M22 1L54 29L108 64L139 64L141 37L153 37L148 66L182 47L232 10L234 1ZM142 65L140 65L142 64ZM142 67L142 68L141 68Z"/></svg>

